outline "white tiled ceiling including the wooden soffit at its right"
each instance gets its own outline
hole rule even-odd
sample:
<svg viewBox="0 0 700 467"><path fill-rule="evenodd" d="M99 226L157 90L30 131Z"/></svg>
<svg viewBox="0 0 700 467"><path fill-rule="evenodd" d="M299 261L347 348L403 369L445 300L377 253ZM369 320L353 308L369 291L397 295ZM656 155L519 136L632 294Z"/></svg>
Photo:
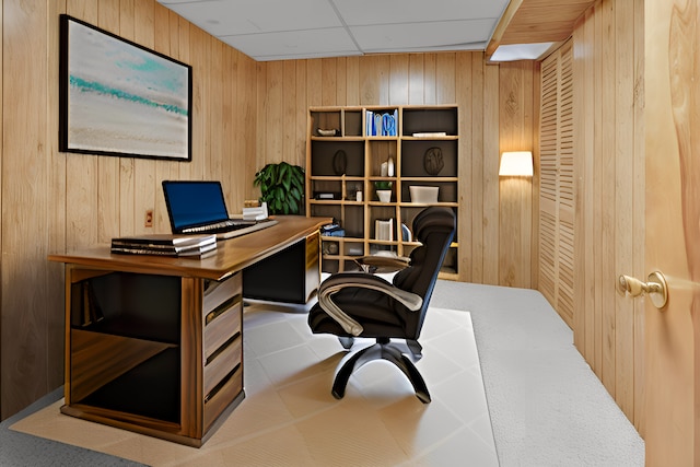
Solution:
<svg viewBox="0 0 700 467"><path fill-rule="evenodd" d="M158 0L258 61L565 39L595 0Z"/></svg>

